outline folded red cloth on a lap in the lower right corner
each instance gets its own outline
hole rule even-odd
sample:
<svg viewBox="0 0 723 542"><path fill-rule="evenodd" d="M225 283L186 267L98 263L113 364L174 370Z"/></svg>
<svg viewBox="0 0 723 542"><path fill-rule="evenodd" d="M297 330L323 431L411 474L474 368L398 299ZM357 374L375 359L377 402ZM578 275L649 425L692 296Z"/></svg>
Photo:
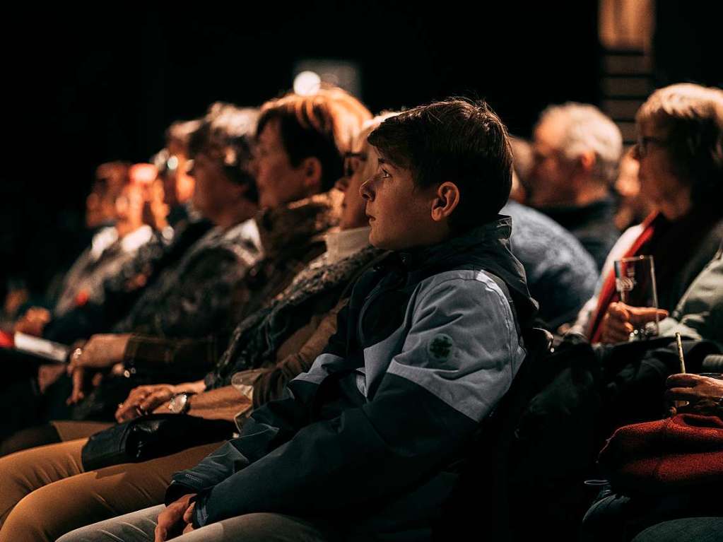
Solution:
<svg viewBox="0 0 723 542"><path fill-rule="evenodd" d="M598 458L613 489L661 494L723 487L723 420L678 414L617 429Z"/></svg>

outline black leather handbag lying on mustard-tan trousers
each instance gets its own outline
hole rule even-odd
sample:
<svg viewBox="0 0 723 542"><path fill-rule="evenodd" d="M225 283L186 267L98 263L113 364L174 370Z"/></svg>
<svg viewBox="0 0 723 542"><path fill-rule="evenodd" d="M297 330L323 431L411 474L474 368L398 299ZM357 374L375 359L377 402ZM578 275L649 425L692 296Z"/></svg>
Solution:
<svg viewBox="0 0 723 542"><path fill-rule="evenodd" d="M85 471L140 463L181 450L231 438L236 426L184 414L150 414L94 434L83 446Z"/></svg>

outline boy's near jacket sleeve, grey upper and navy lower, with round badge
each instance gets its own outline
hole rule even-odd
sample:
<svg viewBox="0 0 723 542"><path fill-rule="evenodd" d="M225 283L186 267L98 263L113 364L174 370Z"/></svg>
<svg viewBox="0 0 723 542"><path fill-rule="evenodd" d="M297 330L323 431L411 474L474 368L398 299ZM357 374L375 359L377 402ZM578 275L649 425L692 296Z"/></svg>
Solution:
<svg viewBox="0 0 723 542"><path fill-rule="evenodd" d="M194 525L250 512L319 515L378 502L458 457L524 356L512 312L489 279L433 281L418 288L409 307L401 353L373 397L304 426L201 491ZM364 355L374 356L376 346ZM328 356L294 382L318 371Z"/></svg>

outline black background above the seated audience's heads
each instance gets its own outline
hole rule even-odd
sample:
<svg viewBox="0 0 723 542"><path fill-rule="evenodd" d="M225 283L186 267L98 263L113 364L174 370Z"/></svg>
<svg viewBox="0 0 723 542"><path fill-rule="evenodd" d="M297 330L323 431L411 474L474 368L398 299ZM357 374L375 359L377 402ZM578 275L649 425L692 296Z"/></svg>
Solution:
<svg viewBox="0 0 723 542"><path fill-rule="evenodd" d="M595 1L447 2L434 11L376 0L262 4L6 14L0 293L15 276L40 288L83 248L99 163L147 161L171 121L215 100L260 105L291 87L301 59L355 61L372 111L471 95L523 136L549 103L599 102ZM656 86L721 84L713 4L659 3Z"/></svg>

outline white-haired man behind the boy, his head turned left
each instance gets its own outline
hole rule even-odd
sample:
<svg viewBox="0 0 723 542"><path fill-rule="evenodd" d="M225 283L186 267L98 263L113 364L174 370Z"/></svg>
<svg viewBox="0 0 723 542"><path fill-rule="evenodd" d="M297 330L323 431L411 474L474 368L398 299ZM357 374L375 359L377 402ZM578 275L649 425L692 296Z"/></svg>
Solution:
<svg viewBox="0 0 723 542"><path fill-rule="evenodd" d="M535 126L528 203L573 233L598 268L620 235L610 187L622 152L620 130L595 106L550 106Z"/></svg>

